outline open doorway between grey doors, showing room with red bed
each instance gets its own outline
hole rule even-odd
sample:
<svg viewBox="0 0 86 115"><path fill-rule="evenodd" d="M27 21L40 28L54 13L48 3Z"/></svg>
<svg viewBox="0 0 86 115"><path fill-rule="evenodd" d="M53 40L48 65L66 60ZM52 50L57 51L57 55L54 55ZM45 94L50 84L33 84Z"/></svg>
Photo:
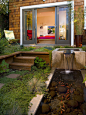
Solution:
<svg viewBox="0 0 86 115"><path fill-rule="evenodd" d="M37 44L55 44L55 7L37 9Z"/></svg>

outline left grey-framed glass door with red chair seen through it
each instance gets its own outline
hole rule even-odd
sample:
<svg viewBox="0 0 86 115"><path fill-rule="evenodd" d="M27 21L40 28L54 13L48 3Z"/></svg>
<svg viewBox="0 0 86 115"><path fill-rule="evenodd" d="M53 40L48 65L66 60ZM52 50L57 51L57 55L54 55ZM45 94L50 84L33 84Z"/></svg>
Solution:
<svg viewBox="0 0 86 115"><path fill-rule="evenodd" d="M34 9L32 10L24 10L23 17L23 43L24 44L33 44L35 42L35 27L34 27Z"/></svg>

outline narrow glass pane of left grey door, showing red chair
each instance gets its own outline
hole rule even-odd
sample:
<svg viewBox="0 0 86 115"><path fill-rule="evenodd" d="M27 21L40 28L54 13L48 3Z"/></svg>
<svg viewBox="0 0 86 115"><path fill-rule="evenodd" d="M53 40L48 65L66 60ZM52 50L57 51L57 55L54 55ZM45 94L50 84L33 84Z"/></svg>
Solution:
<svg viewBox="0 0 86 115"><path fill-rule="evenodd" d="M32 40L32 11L24 12L24 40Z"/></svg>

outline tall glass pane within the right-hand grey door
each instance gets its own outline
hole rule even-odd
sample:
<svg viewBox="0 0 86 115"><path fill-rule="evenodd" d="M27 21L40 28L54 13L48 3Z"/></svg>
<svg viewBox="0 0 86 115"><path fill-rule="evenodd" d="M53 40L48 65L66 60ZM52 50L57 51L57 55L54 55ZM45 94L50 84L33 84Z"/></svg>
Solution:
<svg viewBox="0 0 86 115"><path fill-rule="evenodd" d="M59 8L59 40L68 40L68 7Z"/></svg>

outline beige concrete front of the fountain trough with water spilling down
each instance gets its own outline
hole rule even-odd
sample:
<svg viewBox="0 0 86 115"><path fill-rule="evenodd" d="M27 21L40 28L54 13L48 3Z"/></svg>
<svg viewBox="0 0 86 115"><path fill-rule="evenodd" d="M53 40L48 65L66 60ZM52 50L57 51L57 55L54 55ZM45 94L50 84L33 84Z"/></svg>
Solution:
<svg viewBox="0 0 86 115"><path fill-rule="evenodd" d="M85 51L74 51L74 55L65 55L63 51L57 51L56 49L52 52L52 69L84 69L85 56Z"/></svg>

